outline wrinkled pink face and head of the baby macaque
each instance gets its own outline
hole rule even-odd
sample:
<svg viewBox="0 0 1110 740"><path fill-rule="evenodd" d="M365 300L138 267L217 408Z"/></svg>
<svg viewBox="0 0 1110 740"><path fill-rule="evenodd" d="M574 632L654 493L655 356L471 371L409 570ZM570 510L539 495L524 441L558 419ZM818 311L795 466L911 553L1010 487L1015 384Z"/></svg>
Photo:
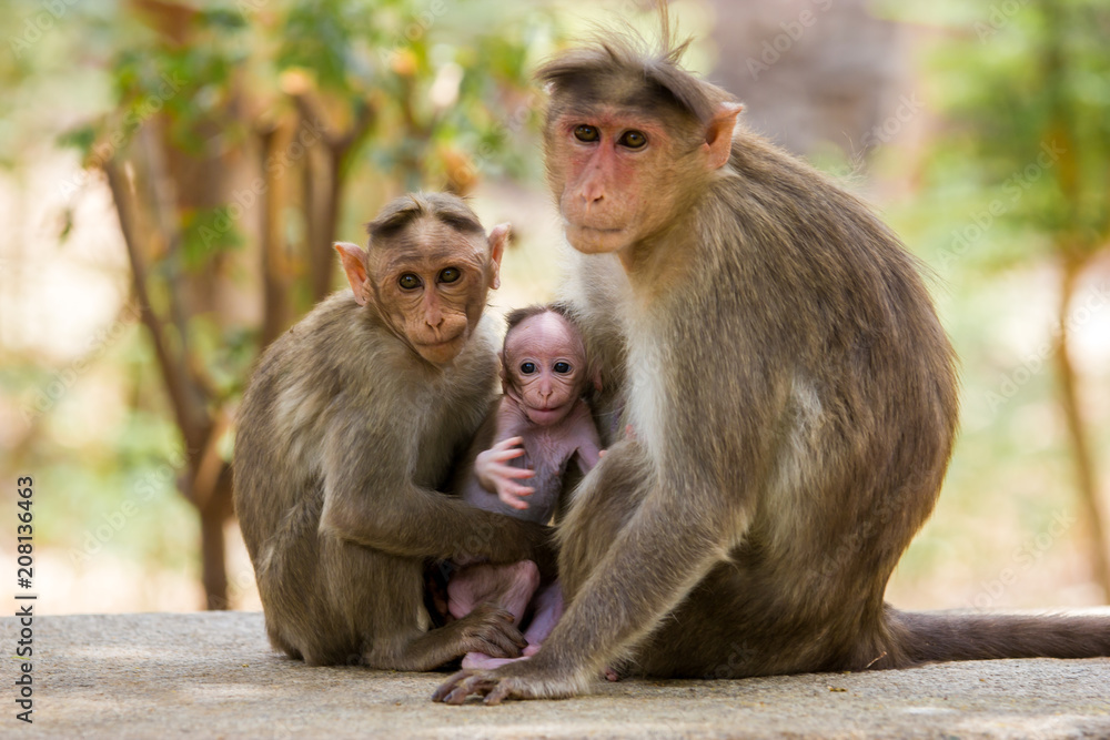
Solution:
<svg viewBox="0 0 1110 740"><path fill-rule="evenodd" d="M585 351L565 318L545 312L514 326L502 356L505 391L533 424L563 420L585 389Z"/></svg>

